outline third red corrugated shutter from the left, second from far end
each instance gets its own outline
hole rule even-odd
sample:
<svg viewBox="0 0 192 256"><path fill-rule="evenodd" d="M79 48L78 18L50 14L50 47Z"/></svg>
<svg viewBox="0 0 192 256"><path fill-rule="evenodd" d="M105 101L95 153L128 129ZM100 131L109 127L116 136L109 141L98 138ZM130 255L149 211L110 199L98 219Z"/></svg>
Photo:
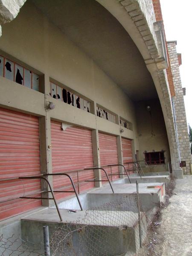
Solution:
<svg viewBox="0 0 192 256"><path fill-rule="evenodd" d="M108 164L118 164L116 136L99 132L99 152L101 166L105 166ZM113 166L111 168L105 167L104 169L107 171L109 175L119 173L118 166ZM102 171L101 174L102 179L106 180L106 176ZM119 179L119 175L113 175L109 177L111 177L111 180Z"/></svg>

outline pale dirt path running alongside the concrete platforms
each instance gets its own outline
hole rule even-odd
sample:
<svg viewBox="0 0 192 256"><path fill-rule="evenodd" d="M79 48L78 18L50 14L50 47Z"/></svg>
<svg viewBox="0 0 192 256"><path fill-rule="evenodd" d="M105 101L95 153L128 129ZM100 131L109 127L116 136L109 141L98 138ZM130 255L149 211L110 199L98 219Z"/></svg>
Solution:
<svg viewBox="0 0 192 256"><path fill-rule="evenodd" d="M175 183L175 184L174 184ZM169 204L157 213L151 255L192 256L192 175L172 181Z"/></svg>

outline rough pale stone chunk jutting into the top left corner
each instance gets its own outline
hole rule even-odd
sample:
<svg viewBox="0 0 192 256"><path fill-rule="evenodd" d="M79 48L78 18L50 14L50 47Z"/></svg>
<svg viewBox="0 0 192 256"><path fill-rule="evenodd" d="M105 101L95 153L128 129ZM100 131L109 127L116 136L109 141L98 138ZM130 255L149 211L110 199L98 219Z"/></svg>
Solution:
<svg viewBox="0 0 192 256"><path fill-rule="evenodd" d="M0 0L0 24L14 20L25 2L26 0Z"/></svg>

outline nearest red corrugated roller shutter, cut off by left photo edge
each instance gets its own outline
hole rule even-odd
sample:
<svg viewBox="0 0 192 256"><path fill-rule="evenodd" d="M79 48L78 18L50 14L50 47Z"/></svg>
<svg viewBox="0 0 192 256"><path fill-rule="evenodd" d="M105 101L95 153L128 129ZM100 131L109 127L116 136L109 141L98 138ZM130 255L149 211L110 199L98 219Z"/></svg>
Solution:
<svg viewBox="0 0 192 256"><path fill-rule="evenodd" d="M39 174L38 117L0 108L0 179ZM41 206L41 200L13 200L39 191L40 180L1 181L0 219Z"/></svg>

